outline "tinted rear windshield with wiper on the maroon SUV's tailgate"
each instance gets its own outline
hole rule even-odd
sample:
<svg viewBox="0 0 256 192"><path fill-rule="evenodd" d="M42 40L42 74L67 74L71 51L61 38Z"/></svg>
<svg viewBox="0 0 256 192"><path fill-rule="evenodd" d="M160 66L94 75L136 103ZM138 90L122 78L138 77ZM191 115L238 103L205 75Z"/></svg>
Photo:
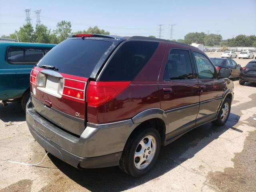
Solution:
<svg viewBox="0 0 256 192"><path fill-rule="evenodd" d="M112 42L92 39L68 39L48 52L37 66L50 65L58 72L90 77L94 67Z"/></svg>

